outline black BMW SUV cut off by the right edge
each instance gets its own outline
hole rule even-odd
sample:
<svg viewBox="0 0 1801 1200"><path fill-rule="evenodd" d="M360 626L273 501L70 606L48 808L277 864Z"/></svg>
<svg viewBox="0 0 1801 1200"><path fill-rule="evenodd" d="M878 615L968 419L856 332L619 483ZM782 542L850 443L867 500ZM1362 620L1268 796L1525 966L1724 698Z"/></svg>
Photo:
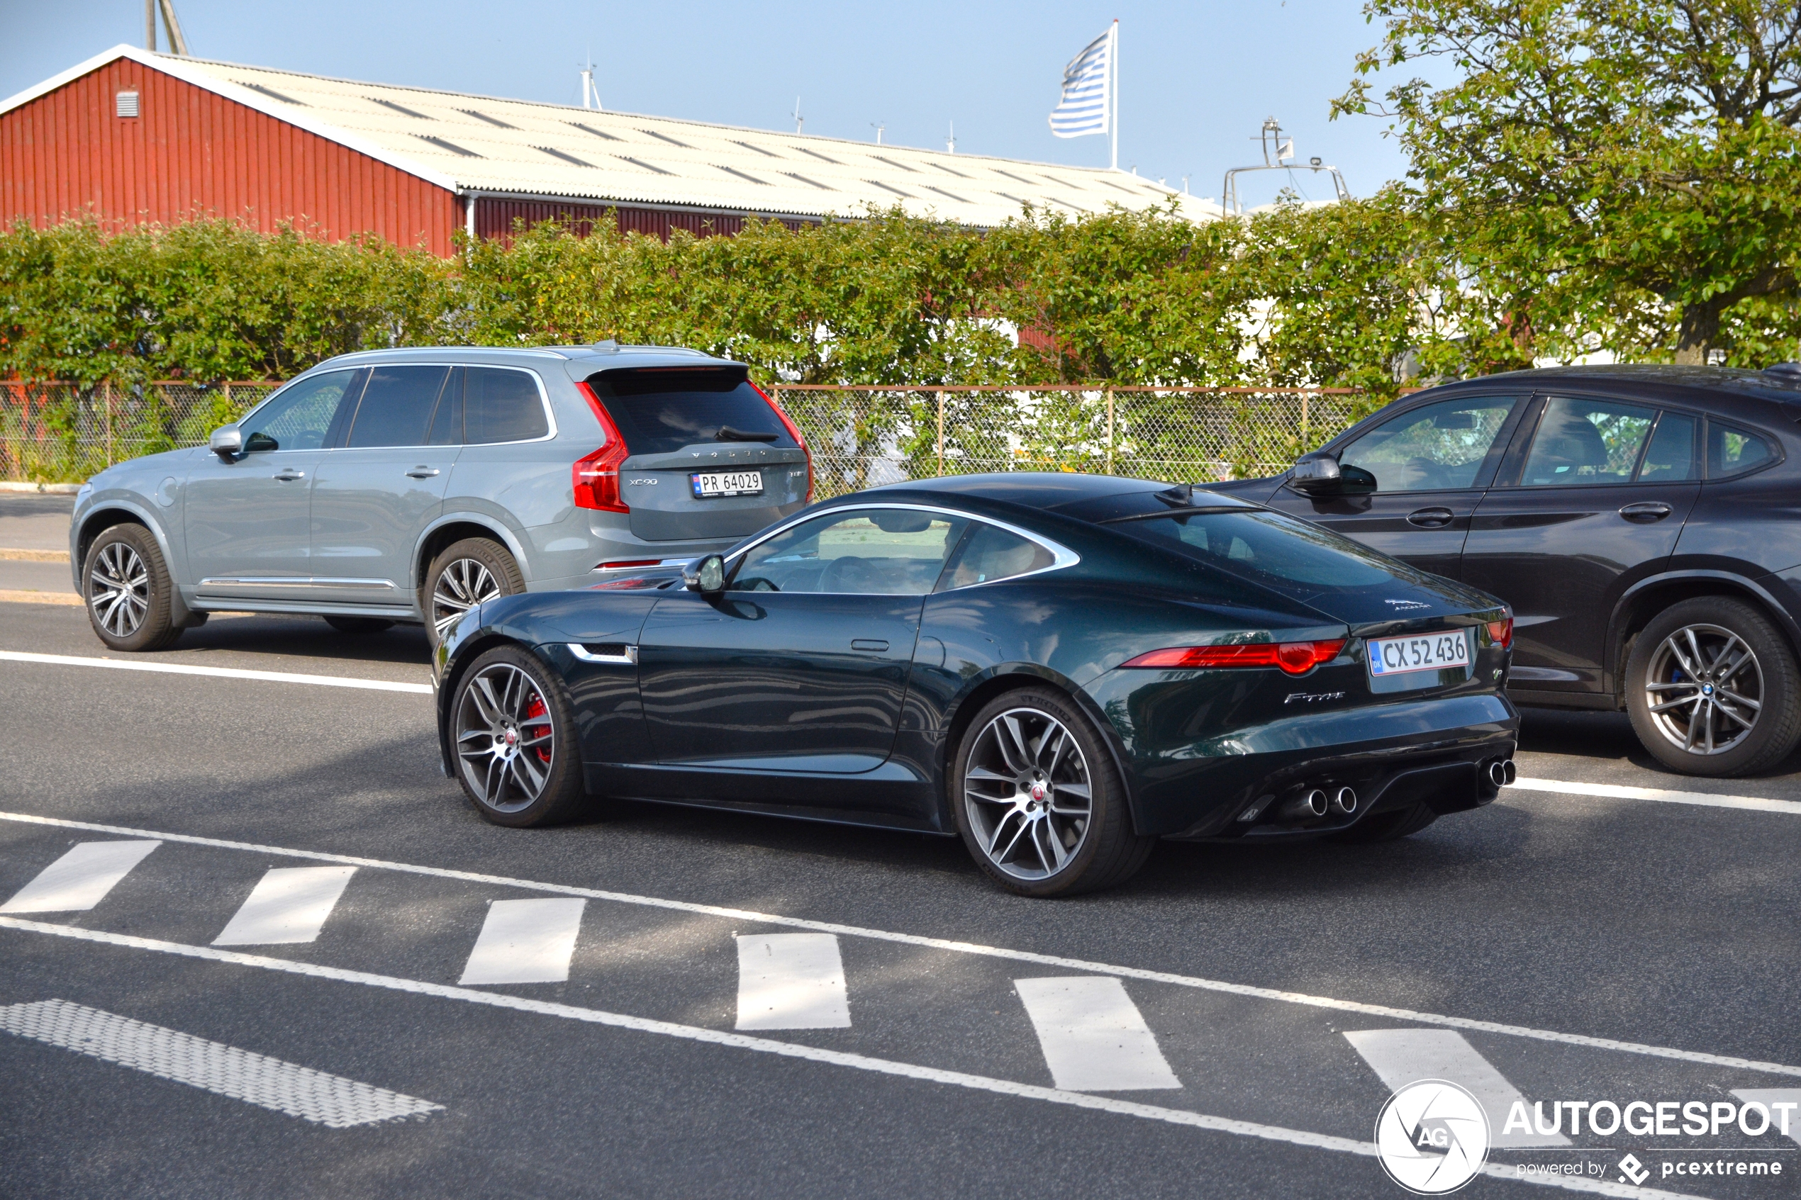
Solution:
<svg viewBox="0 0 1801 1200"><path fill-rule="evenodd" d="M1217 489L1507 601L1516 703L1626 709L1693 775L1801 739L1801 363L1462 380Z"/></svg>

